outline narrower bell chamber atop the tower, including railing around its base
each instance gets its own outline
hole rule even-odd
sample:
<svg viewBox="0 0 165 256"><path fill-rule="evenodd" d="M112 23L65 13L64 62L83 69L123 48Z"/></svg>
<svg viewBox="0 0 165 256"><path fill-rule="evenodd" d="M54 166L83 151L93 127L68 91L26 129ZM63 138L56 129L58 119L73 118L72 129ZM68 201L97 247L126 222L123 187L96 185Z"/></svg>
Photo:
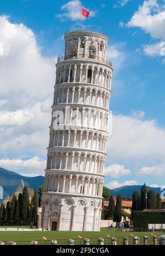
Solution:
<svg viewBox="0 0 165 256"><path fill-rule="evenodd" d="M106 58L108 38L106 35L82 29L72 29L64 35L65 51L58 56L58 62L69 59L91 59L112 69L111 60Z"/></svg>

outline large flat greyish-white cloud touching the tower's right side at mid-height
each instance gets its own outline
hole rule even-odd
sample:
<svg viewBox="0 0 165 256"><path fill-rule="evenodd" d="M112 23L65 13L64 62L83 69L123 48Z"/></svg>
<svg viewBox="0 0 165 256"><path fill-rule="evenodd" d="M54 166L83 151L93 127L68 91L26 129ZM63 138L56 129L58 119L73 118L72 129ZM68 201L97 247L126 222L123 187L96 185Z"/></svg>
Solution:
<svg viewBox="0 0 165 256"><path fill-rule="evenodd" d="M107 142L109 163L133 163L136 168L165 163L165 129L155 120L113 115ZM141 166L140 166L141 165Z"/></svg>

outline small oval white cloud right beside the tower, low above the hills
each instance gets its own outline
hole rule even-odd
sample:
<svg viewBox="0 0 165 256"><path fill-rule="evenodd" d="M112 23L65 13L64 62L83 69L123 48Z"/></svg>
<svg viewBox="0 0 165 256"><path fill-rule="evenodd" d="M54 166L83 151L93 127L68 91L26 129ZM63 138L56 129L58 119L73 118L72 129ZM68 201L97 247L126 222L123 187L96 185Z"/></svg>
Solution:
<svg viewBox="0 0 165 256"><path fill-rule="evenodd" d="M125 169L124 165L113 164L109 165L105 168L105 175L111 177L121 177L124 175L130 175L131 171L129 169Z"/></svg>

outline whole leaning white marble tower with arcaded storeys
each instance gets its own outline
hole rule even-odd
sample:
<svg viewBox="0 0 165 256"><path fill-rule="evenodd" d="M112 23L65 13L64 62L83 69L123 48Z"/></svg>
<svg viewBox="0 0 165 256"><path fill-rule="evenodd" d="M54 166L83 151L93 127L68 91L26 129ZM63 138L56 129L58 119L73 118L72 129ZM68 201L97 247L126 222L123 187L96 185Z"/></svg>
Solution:
<svg viewBox="0 0 165 256"><path fill-rule="evenodd" d="M112 64L108 38L68 30L56 64L40 225L100 231Z"/></svg>

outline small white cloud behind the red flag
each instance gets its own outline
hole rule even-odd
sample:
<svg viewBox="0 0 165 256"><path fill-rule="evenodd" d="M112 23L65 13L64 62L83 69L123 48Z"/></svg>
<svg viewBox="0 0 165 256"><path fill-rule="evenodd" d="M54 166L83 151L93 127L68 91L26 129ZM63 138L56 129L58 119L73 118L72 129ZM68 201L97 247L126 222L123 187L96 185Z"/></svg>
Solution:
<svg viewBox="0 0 165 256"><path fill-rule="evenodd" d="M64 4L61 8L61 13L57 14L56 17L60 18L63 22L66 19L71 19L71 20L80 20L86 19L83 15L81 17L81 7L83 4L79 0L72 0L69 1L67 4ZM85 8L85 7L84 7ZM96 11L89 10L88 8L87 11L90 11L90 17L95 17Z"/></svg>

